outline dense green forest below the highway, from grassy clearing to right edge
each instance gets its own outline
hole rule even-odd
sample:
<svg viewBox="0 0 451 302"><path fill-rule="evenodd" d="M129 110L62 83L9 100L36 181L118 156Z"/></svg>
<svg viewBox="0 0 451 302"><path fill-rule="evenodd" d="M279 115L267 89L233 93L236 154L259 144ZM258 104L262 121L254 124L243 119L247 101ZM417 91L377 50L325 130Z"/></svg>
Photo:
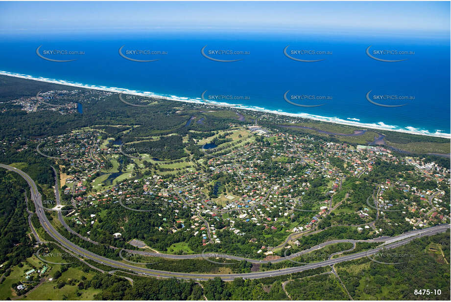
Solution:
<svg viewBox="0 0 451 302"><path fill-rule="evenodd" d="M335 269L354 300L449 300L450 266L441 254L432 253L430 244L439 244L446 261L450 261L450 233L421 237L390 250L391 254L414 255L403 265L386 265L368 258L342 262ZM362 245L360 248L369 246ZM435 247L435 246L434 246ZM377 258L383 261L383 257ZM393 259L385 259L393 261ZM127 280L117 276L96 275L84 287L102 289L98 300L348 300L339 280L328 267L286 276L224 282L158 280L136 275ZM445 277L445 278L444 278ZM202 285L202 286L201 286ZM441 295L414 295L415 289L440 289Z"/></svg>

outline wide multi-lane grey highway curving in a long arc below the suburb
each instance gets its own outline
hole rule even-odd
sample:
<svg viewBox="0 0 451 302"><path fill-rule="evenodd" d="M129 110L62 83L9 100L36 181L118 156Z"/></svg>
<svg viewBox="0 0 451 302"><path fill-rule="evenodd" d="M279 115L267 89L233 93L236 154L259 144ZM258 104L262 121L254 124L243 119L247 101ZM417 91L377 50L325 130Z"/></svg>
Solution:
<svg viewBox="0 0 451 302"><path fill-rule="evenodd" d="M349 260L367 257L367 256L378 253L382 248L385 248L385 249L395 248L395 247L398 247L398 246L408 243L409 241L413 240L414 238L442 233L442 232L447 231L450 228L450 225L447 224L447 225L438 225L435 227L422 229L422 230L410 231L410 232L407 232L407 233L401 235L402 236L402 237L400 237L400 238L402 238L401 241L396 241L396 242L391 242L391 243L386 242L386 244L383 247L377 247L372 250L363 251L363 252L359 252L359 253L352 254L352 255L346 255L346 256L343 256L343 257L340 257L337 259L328 259L328 260L324 260L324 261L320 261L320 262L310 263L310 264L303 265L303 266L289 267L289 268L273 270L273 271L253 272L253 273L244 273L244 274L190 274L190 273L167 272L167 271L161 271L161 270L142 268L139 266L119 262L117 260L108 259L108 258L99 256L99 255L96 255L95 253L92 253L88 250L85 250L85 249L75 245L74 243L69 241L67 238L65 238L61 234L59 234L58 231L55 230L55 228L48 221L47 216L45 215L45 210L42 205L42 196L41 196L41 194L39 194L37 186L36 186L35 182L31 179L31 177L28 174L24 173L23 171L16 169L14 167L8 166L8 165L0 164L0 167L7 169L9 171L18 173L25 179L25 181L30 186L31 197L32 197L33 202L35 203L36 214L39 218L41 225L43 226L44 230L53 239L55 239L57 241L57 243L61 244L65 249L70 250L75 256L78 256L78 257L83 257L85 259L91 259L97 263L108 265L108 266L111 266L116 269L122 269L125 271L130 271L130 272L134 272L137 274L142 274L142 275L152 276L152 277L160 277L160 278L175 277L178 279L186 279L186 280L189 280L189 279L209 280L214 277L220 277L223 280L234 280L235 278L259 279L259 278L266 278L266 277L281 276L281 275L302 272L302 271L313 269L313 268L329 266L329 265L333 265L333 264L343 262L343 261L349 261ZM394 237L394 238L396 238L396 237ZM394 238L391 238L391 239L394 239ZM372 239L372 240L377 240L377 239ZM368 240L368 241L371 242L370 240ZM183 259L183 257L185 255L180 255L180 256L181 256L180 259Z"/></svg>

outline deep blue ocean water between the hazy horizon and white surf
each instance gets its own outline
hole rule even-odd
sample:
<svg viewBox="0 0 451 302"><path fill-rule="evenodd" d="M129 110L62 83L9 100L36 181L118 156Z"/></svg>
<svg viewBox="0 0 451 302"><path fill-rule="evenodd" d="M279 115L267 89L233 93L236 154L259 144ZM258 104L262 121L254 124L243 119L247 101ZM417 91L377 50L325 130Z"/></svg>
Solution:
<svg viewBox="0 0 451 302"><path fill-rule="evenodd" d="M178 32L149 34L18 35L0 36L0 70L66 80L85 85L120 87L166 96L199 99L228 95L238 100L220 100L247 108L288 113L307 113L342 122L358 122L386 129L412 130L426 134L450 133L450 39L427 34L418 36L327 35L300 32L227 33ZM84 55L45 55L73 62L46 61L36 54L45 50L78 50ZM119 56L126 50L164 51L162 55ZM244 51L248 54L210 56L237 62L216 62L202 56L201 49ZM291 50L329 51L324 55L293 55L320 62L298 62L284 55ZM373 60L365 49L414 51L411 55L379 55L387 63ZM376 55L375 55L376 56ZM292 102L320 107L298 107L284 99L291 95L326 97L324 101ZM405 102L376 100L366 94L414 97ZM124 104L124 106L126 106ZM365 125L366 124L366 125Z"/></svg>

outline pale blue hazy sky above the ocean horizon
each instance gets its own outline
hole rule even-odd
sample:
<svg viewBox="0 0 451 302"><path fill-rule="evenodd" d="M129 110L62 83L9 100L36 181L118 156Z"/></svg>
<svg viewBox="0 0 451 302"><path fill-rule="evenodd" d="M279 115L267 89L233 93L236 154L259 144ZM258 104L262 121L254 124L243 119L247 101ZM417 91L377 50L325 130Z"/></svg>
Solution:
<svg viewBox="0 0 451 302"><path fill-rule="evenodd" d="M264 28L450 31L450 2L0 2L0 33Z"/></svg>

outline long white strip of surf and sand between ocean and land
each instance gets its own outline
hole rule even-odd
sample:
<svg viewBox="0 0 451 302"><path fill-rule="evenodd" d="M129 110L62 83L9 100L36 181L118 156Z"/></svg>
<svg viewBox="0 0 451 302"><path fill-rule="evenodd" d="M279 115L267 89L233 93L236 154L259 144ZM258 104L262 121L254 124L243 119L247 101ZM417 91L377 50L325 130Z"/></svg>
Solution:
<svg viewBox="0 0 451 302"><path fill-rule="evenodd" d="M109 91L109 92L115 92L115 93L126 93L126 94L137 95L137 96L154 97L154 98L165 99L168 101L196 103L196 104L204 104L204 105L207 104L206 102L202 101L201 98L179 97L176 95L164 96L164 95L154 94L154 93L148 92L148 91L137 91L137 90L130 90L130 89L119 88L119 87L86 85L86 84L81 84L81 83L68 82L65 80L48 79L48 78L44 78L44 77L33 77L30 75L26 75L26 74L19 74L19 73L13 73L13 72L8 72L8 71L0 71L0 75L16 77L16 78L21 78L21 79L26 79L26 80L34 80L34 81L52 83L52 84L73 86L73 87L78 87L78 88L102 90L102 91ZM314 121L328 122L328 123L332 123L332 124L353 126L353 127L358 127L358 128L394 131L394 132L401 132L401 133L407 133L407 134L425 135L425 136L451 139L451 133L442 133L437 130L435 133L430 133L428 130L419 130L414 127L405 127L406 129L395 129L398 127L386 125L382 122L379 122L376 124L360 123L359 121L356 121L356 120L358 120L356 118L347 118L347 120L343 120L343 119L340 119L337 117L326 117L326 116L314 115L314 114L309 114L309 113L289 113L289 112L278 111L278 110L270 110L270 109L261 108L261 107L231 105L228 103L221 103L221 102L210 102L210 103L213 103L214 105L216 105L218 107L227 107L227 108L251 110L251 111L257 111L257 112L264 112L264 113L272 113L272 114L278 114L278 115L283 115L283 116L305 118L305 119L310 119L310 120L314 120Z"/></svg>

